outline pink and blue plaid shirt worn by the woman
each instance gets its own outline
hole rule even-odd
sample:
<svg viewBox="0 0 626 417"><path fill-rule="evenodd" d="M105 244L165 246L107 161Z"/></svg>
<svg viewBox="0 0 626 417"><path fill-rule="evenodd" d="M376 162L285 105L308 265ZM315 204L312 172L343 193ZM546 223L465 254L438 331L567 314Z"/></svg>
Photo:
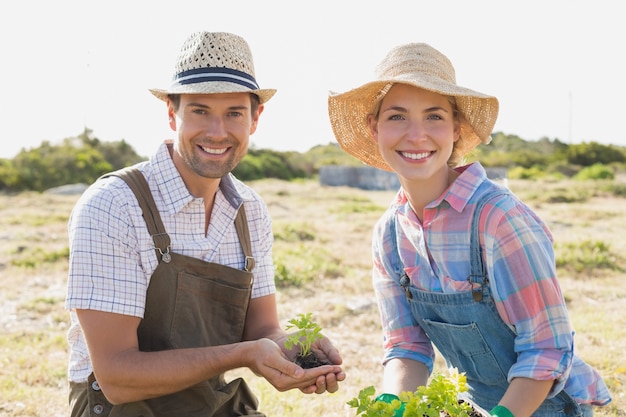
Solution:
<svg viewBox="0 0 626 417"><path fill-rule="evenodd" d="M434 363L433 346L413 319L399 285L402 272L424 291L471 290L467 277L469 226L477 202L473 197L479 186L483 190L496 185L479 163L460 171L455 182L426 206L423 222L401 189L375 226L373 285L383 325L383 362L410 358L431 370ZM548 227L512 195L492 199L483 213L486 220L480 230L491 291L499 315L517 335L518 360L509 381L555 379L554 390L571 387L568 393L579 402L608 402L609 393L597 372L574 357L574 332L556 277Z"/></svg>

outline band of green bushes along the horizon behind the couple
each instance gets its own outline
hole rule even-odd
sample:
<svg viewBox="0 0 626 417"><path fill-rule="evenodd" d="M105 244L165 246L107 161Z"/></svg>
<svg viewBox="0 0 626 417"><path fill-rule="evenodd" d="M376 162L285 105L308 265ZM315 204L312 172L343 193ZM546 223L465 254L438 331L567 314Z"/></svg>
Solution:
<svg viewBox="0 0 626 417"><path fill-rule="evenodd" d="M595 142L568 145L558 139L526 141L495 132L489 145L476 147L467 162L485 167L507 167L510 179L572 177L608 179L626 171L626 148ZM106 142L85 129L60 144L43 141L22 150L14 159L0 159L0 191L44 191L48 188L91 183L100 175L145 160L125 140ZM604 168L592 167L594 164ZM233 173L242 181L277 178L287 181L316 179L326 165L362 166L363 163L331 142L307 152L278 152L251 147ZM581 170L581 167L583 169ZM586 170L585 167L590 167ZM611 168L607 168L611 167Z"/></svg>

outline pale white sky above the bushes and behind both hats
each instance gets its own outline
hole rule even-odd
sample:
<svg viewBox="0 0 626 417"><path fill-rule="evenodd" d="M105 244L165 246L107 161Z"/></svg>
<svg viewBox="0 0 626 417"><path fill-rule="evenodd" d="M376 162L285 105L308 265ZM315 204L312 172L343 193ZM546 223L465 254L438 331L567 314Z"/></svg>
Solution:
<svg viewBox="0 0 626 417"><path fill-rule="evenodd" d="M335 143L329 91L374 79L393 47L425 42L457 84L500 101L494 132L626 146L626 25L614 0L239 0L11 2L0 15L0 158L84 128L150 156L173 132L149 88L170 84L199 30L243 36L275 88L257 148Z"/></svg>

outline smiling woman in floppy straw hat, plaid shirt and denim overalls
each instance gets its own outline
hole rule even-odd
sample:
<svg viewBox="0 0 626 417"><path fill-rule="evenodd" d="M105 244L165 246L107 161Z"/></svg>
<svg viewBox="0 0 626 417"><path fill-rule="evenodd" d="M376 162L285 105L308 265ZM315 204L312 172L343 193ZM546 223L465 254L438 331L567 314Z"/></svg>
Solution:
<svg viewBox="0 0 626 417"><path fill-rule="evenodd" d="M611 398L574 353L550 231L480 163L463 165L489 143L498 100L458 86L423 43L394 48L377 74L331 93L329 116L344 150L401 184L372 244L383 391L425 385L434 345L492 415L593 415Z"/></svg>

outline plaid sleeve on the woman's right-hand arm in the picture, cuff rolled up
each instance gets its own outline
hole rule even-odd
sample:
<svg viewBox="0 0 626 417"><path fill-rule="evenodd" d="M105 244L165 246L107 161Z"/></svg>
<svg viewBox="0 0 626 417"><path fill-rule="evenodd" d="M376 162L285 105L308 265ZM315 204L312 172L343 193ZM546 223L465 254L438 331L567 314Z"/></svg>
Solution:
<svg viewBox="0 0 626 417"><path fill-rule="evenodd" d="M573 330L556 276L552 235L525 206L489 222L486 260L496 307L514 328L517 362L508 379L555 380L552 397L572 366ZM497 239L493 238L498 236Z"/></svg>

